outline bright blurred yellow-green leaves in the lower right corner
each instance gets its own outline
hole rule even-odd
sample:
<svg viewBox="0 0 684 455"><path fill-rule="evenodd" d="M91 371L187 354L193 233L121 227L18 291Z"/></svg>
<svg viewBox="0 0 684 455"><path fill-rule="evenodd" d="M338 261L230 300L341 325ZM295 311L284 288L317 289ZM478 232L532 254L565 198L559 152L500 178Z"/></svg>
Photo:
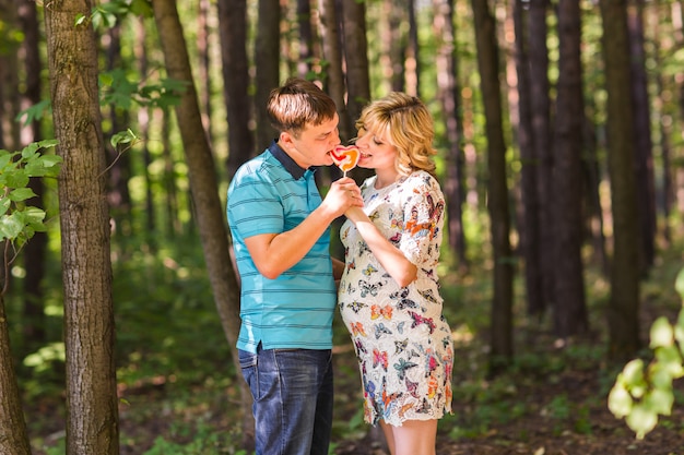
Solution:
<svg viewBox="0 0 684 455"><path fill-rule="evenodd" d="M684 270L675 288L684 299ZM665 316L653 322L650 346L654 358L647 368L642 359L629 361L617 375L609 395L609 409L642 439L658 424L658 416L670 416L674 404L674 380L684 376L684 309L675 324Z"/></svg>

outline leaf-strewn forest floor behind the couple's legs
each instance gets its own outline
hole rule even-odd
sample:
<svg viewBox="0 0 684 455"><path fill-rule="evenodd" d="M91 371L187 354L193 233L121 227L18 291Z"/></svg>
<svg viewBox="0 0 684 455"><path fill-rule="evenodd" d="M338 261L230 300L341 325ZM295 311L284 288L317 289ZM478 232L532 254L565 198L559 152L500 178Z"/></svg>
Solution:
<svg viewBox="0 0 684 455"><path fill-rule="evenodd" d="M387 455L378 442L381 441L379 431L369 431L370 427L358 421L361 402L353 352L349 348L338 349L334 361L333 453ZM565 368L557 367L557 371L539 368L538 372L531 371L534 361L538 360L531 360L532 368L517 372L518 383L503 388L496 382L468 384L465 373L455 378L456 390L461 394L455 397L453 416L440 422L437 454L684 454L681 398L673 415L639 441L624 421L615 419L608 410L605 394L611 384L606 383L598 360L595 363L586 359L573 366L564 363ZM682 396L683 384L675 385ZM121 455L238 453L240 436L235 412L239 400L229 388L203 384L192 391L181 391L172 378L156 378L134 387L123 387L120 395L125 397L120 408ZM39 414L37 409L32 411L46 419L39 424L43 436L34 441L34 455L63 453L46 448L55 446L60 439L63 444L63 419L57 415L59 408L47 406ZM211 444L216 448L212 450Z"/></svg>

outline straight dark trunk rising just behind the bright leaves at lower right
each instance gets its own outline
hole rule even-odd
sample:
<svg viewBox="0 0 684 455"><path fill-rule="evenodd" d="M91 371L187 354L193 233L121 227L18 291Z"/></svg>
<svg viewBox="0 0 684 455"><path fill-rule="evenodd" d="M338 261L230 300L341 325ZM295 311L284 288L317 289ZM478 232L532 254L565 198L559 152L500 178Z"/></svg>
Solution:
<svg viewBox="0 0 684 455"><path fill-rule="evenodd" d="M601 0L608 88L608 142L614 253L609 302L609 355L623 361L639 349L639 225L635 134L625 0Z"/></svg>

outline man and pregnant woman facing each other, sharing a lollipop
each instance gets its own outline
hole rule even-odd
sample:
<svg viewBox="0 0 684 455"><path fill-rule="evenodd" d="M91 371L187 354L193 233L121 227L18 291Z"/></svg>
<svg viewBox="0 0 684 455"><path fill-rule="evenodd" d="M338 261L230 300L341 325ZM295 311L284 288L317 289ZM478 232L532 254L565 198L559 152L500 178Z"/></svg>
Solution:
<svg viewBox="0 0 684 455"><path fill-rule="evenodd" d="M291 79L267 109L280 135L237 171L227 203L257 454L328 454L337 302L358 359L365 420L380 423L392 455L434 455L437 420L451 411L453 349L438 292L445 201L433 120L401 93L368 105L355 145L358 166L376 175L361 188L337 180L321 200L314 172L332 164L340 143L334 101ZM329 253L341 215L345 263Z"/></svg>

